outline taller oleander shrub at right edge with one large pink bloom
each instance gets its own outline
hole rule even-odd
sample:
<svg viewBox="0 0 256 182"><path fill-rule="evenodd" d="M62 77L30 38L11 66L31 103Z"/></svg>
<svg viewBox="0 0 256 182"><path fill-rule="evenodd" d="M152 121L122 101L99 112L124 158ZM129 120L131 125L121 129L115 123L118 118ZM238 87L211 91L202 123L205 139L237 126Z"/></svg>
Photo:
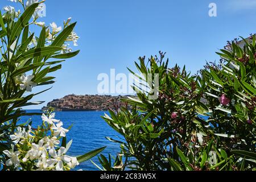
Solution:
<svg viewBox="0 0 256 182"><path fill-rule="evenodd" d="M215 144L234 156L234 169L255 168L256 144L256 52L255 35L229 42L221 49L220 64L201 71L207 88L209 131ZM234 154L234 155L233 155Z"/></svg>

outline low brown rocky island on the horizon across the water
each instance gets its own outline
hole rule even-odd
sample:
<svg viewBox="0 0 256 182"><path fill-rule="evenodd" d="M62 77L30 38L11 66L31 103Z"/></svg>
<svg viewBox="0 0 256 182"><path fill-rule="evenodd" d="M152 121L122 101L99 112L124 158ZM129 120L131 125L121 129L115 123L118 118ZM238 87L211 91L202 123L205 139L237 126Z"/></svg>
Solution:
<svg viewBox="0 0 256 182"><path fill-rule="evenodd" d="M84 95L77 96L71 94L60 99L53 100L43 107L53 107L58 111L105 111L113 107L113 102L120 101L121 98L127 96L100 96L100 95Z"/></svg>

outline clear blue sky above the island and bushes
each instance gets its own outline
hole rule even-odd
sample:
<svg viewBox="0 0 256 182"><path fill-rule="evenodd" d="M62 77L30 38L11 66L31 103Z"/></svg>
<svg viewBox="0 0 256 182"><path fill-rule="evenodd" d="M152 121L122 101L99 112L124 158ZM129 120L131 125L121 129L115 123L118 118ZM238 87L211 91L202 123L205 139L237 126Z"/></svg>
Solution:
<svg viewBox="0 0 256 182"><path fill-rule="evenodd" d="M208 15L212 2L217 17ZM5 5L15 4L1 0ZM46 6L47 16L40 21L61 25L71 16L81 37L80 54L63 63L51 90L34 98L46 103L67 94L97 94L98 74L112 68L129 73L126 67L135 70L139 56L160 50L171 65L185 64L196 73L205 60L218 60L215 52L227 40L256 31L255 0L46 0Z"/></svg>

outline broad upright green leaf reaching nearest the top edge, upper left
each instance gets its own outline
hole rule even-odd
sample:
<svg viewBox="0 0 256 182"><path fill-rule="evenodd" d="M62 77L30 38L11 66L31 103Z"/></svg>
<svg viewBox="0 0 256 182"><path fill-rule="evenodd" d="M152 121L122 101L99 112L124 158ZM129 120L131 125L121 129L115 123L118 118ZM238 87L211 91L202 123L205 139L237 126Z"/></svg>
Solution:
<svg viewBox="0 0 256 182"><path fill-rule="evenodd" d="M35 12L36 7L38 7L39 3L34 3L29 6L24 13L20 16L18 21L15 23L13 31L11 31L9 44L11 45L14 40L20 35L23 28L28 25L28 21L31 19L32 15Z"/></svg>

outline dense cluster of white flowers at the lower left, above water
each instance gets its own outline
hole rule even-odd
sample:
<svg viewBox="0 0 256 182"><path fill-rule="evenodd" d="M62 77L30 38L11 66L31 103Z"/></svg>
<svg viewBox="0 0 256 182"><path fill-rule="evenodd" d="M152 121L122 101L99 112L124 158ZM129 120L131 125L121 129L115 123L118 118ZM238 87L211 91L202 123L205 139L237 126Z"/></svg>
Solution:
<svg viewBox="0 0 256 182"><path fill-rule="evenodd" d="M11 150L3 151L7 156L6 166L16 170L68 171L79 165L76 157L66 155L72 141L66 147L59 146L60 138L65 137L69 130L55 119L55 113L49 113L48 117L43 114L42 120L42 126L35 131L31 126L18 127L10 135L14 144Z"/></svg>

